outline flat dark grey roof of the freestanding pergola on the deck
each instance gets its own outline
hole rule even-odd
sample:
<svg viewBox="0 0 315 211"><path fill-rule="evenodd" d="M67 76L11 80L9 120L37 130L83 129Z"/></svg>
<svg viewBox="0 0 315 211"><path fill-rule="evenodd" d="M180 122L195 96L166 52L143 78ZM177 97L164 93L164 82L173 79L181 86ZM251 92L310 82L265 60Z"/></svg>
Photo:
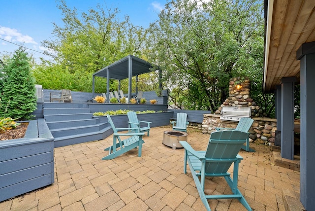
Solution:
<svg viewBox="0 0 315 211"><path fill-rule="evenodd" d="M131 59L132 76L153 71L153 66L143 59L128 55L123 59L95 72L93 76L107 77L107 69L109 70L109 78L122 80L129 77L128 66L129 58Z"/></svg>

